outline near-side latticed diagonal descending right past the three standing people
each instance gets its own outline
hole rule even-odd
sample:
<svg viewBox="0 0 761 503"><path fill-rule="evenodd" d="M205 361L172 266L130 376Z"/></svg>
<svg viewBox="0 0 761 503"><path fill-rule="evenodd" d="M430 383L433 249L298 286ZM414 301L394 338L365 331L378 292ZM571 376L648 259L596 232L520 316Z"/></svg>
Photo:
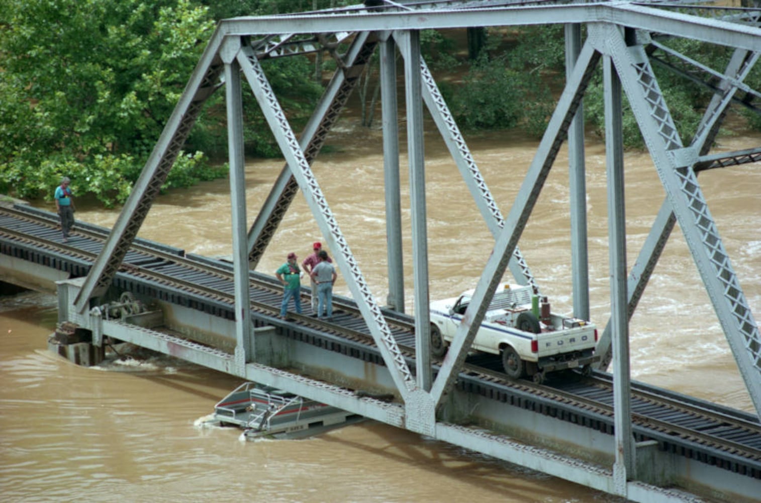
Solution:
<svg viewBox="0 0 761 503"><path fill-rule="evenodd" d="M307 205L309 205L317 221L317 226L330 244L330 249L336 252L336 263L338 263L339 269L341 269L346 283L349 285L349 290L352 291L362 317L368 323L368 328L384 358L394 384L396 384L403 399L409 400L410 393L416 387L415 378L406 364L404 355L396 345L396 340L393 339L389 326L380 312L380 307L365 282L358 263L356 263L349 249L349 244L333 216L330 205L328 205L307 159L304 158L304 152L298 145L288 119L285 118L285 113L283 113L280 103L276 99L266 75L264 75L259 60L256 59L253 49L244 47L238 53L237 61L240 68L243 69L251 90L260 104L273 135L275 135L275 140L288 162L288 166L291 168L291 173L304 193Z"/></svg>

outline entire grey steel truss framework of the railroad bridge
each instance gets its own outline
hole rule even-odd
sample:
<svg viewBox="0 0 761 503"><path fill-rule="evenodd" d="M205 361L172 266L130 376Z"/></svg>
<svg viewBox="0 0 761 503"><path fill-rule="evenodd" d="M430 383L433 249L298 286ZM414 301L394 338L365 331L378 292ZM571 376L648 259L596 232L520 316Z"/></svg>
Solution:
<svg viewBox="0 0 761 503"><path fill-rule="evenodd" d="M693 2L694 3L694 2ZM658 460L648 442L638 441L629 378L629 318L667 242L679 223L699 275L712 301L756 412L761 412L761 337L747 299L731 266L698 180L702 170L754 162L761 147L712 154L711 147L729 107L740 103L756 110L758 92L743 81L761 54L757 8L691 5L686 2L365 2L352 8L221 21L186 89L158 139L123 212L83 281L59 301L68 317L98 332L93 309L118 283L125 257L135 243L151 203L167 178L205 100L224 87L228 113L232 241L234 275L234 348L226 371L263 384L388 422L431 438L448 441L502 460L559 476L635 501L683 501L685 495L663 489L665 481L645 473L643 464ZM506 215L489 192L479 168L438 91L420 51L420 30L464 27L506 27L562 24L565 27L566 84L549 125L527 169L521 190ZM583 36L582 36L583 35ZM668 38L696 40L731 49L725 68L708 68L698 58L670 49ZM381 308L370 293L349 243L334 218L310 168L326 135L336 123L358 77L375 51L380 53L384 125L384 173L387 197L388 278L391 310ZM395 55L403 57L407 150L409 152L412 215L414 317L409 318L412 355L400 347L394 310L403 311L403 254L397 129ZM326 53L336 59L336 72L307 126L297 138L269 85L264 59L304 53ZM653 72L664 65L697 81L712 92L689 145L680 138L667 100ZM527 447L494 432L465 428L452 420L452 401L459 397L463 368L476 329L501 277L510 269L518 282L536 288L530 268L517 247L560 146L568 141L569 196L572 215L573 301L575 316L589 318L586 250L584 144L581 110L591 77L601 66L605 99L607 199L612 315L597 351L601 369L613 365L611 401L613 442L610 466L577 463L551 450ZM253 92L282 150L286 164L263 208L249 224L244 194L244 81ZM638 259L626 264L626 228L622 155L622 97L637 120L655 170L666 193ZM423 109L434 119L457 164L473 204L492 232L494 249L483 264L471 307L443 361L431 359L428 335L428 250L425 215ZM256 315L250 314L250 274L282 221L288 205L301 191L323 238L335 254L356 312L377 348L377 363L398 397L391 406L362 396L350 396L323 381L288 374L263 357L271 347L254 336ZM10 239L10 238L8 238ZM100 323L100 324L98 324ZM116 328L113 328L116 329ZM147 336L146 336L147 337ZM139 339L139 337L138 337ZM158 345L166 349L168 345ZM174 346L172 346L174 347ZM269 349L268 349L269 348ZM169 349L166 349L169 352ZM184 353L183 353L184 354ZM301 358L308 358L302 355ZM447 420L444 420L444 419ZM519 415L514 415L516 422ZM511 422L511 419L502 419ZM609 431L610 432L610 431ZM645 462L645 463L643 463ZM752 470L751 470L752 471ZM757 476L748 484L726 488L727 499L755 498ZM714 479L707 482L714 483ZM718 482L717 482L718 483ZM750 487L743 492L740 487ZM722 489L724 490L724 489ZM733 494L733 490L737 492ZM755 496L754 496L755 494Z"/></svg>

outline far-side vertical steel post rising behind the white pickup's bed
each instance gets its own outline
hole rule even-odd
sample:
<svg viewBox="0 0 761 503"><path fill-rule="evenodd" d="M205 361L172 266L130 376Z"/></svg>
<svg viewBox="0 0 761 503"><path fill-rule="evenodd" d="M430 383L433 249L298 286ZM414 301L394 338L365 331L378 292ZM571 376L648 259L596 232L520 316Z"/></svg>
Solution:
<svg viewBox="0 0 761 503"><path fill-rule="evenodd" d="M581 53L581 25L565 25L565 75L571 75ZM584 179L584 104L568 127L568 193L571 210L573 314L589 320L589 256L587 253L587 183Z"/></svg>

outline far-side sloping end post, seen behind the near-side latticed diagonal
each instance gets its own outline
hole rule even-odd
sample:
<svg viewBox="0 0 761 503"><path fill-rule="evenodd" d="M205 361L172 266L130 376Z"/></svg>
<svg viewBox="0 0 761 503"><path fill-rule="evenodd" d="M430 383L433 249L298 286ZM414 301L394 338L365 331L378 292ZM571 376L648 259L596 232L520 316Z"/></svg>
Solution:
<svg viewBox="0 0 761 503"><path fill-rule="evenodd" d="M370 40L370 32L357 33L352 46L341 63L342 68L333 74L317 109L310 117L301 133L299 145L311 164L322 148L327 133L339 117L346 100L358 83L358 75L364 68L369 55L377 42ZM248 250L250 268L256 269L264 250L282 221L285 212L298 193L298 183L293 178L288 164L282 168L274 186L265 200L261 211L256 215L248 232Z"/></svg>

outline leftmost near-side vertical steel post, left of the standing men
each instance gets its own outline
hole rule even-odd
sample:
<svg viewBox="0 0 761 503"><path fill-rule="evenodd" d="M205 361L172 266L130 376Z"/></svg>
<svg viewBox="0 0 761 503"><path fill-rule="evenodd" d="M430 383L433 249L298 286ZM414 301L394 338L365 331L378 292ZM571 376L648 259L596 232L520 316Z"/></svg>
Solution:
<svg viewBox="0 0 761 503"><path fill-rule="evenodd" d="M233 270L235 274L235 367L246 374L246 362L253 355L251 301L248 280L248 240L246 223L246 174L243 135L243 99L240 65L235 59L240 37L228 37L220 49L224 62L225 98L228 113L230 194L232 209Z"/></svg>

